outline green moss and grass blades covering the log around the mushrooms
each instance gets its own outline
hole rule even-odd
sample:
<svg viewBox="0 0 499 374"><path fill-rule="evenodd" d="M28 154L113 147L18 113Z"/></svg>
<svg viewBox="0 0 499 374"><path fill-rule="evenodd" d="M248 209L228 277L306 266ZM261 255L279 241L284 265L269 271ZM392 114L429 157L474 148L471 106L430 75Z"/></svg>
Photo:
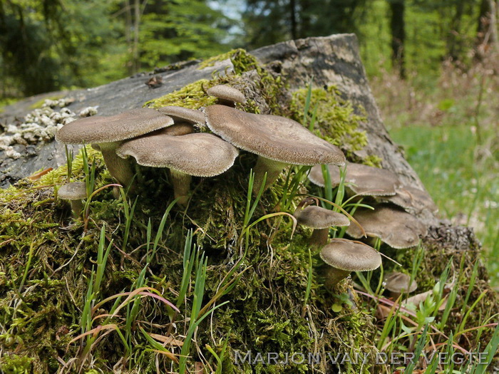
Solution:
<svg viewBox="0 0 499 374"><path fill-rule="evenodd" d="M335 126L321 131L334 142L345 134L362 136L356 133L362 118L349 103L334 97L332 108L321 105L322 91L310 90L308 99L297 93L292 106L277 95L283 83L254 58L237 51L232 60L241 66L234 75L197 82L150 104L188 97L197 108L203 86L228 81L267 99L263 105L274 114L308 118L309 126L335 118ZM309 116L316 105L321 111ZM245 110L257 112L257 104L249 100ZM0 190L2 370L51 373L64 365L88 373L113 367L182 373L200 363L217 373L307 373L305 364L236 366L235 351L277 352L282 359L285 352L417 353L432 343L444 352L455 346L477 350L478 341L487 342L490 352L497 348L498 303L477 262L477 247L456 253L451 245L428 241L416 260L413 250L387 251L421 290L435 291L418 312L393 309L386 321L375 319L376 308L390 306L380 272L359 275L356 283L364 287L345 281L329 294L322 262L309 251L310 230L294 230L289 219L304 193L343 204L343 184L323 192L307 182L307 167L292 167L253 197L255 160L242 152L224 175L194 178L186 208L175 204L165 170L148 167L138 169L136 197L120 189L115 199L101 155L91 147L71 164L72 179L89 187L81 220L53 194L68 179L67 166ZM386 261L383 271L396 268ZM438 311L443 284L451 280L450 306ZM4 354L12 350L16 354ZM322 360L312 370L326 372L326 364ZM366 373L372 363L341 369Z"/></svg>

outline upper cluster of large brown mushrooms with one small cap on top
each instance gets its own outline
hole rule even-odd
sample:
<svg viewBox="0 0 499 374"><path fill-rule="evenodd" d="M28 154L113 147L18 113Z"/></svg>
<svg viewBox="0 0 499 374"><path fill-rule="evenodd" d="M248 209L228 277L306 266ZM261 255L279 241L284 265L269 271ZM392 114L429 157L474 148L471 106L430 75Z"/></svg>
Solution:
<svg viewBox="0 0 499 374"><path fill-rule="evenodd" d="M345 157L338 147L294 120L236 109L236 103L246 101L240 90L215 85L207 93L218 101L204 113L167 106L83 118L58 130L56 140L91 144L102 152L110 175L132 191L134 172L128 157L138 165L168 168L175 198L183 206L189 199L191 177L222 174L234 164L239 150L259 156L254 167L254 192L259 191L266 174L264 189L289 164L344 165Z"/></svg>

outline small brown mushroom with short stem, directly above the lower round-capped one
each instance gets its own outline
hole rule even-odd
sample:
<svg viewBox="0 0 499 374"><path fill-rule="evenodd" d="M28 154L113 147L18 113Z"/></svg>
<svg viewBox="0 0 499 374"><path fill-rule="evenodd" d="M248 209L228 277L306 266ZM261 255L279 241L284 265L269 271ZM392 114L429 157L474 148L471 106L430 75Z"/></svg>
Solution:
<svg viewBox="0 0 499 374"><path fill-rule="evenodd" d="M294 211L293 216L299 224L314 229L309 239L312 246L324 246L329 238L329 227L349 226L350 220L344 214L333 212L317 205L308 205L305 200Z"/></svg>

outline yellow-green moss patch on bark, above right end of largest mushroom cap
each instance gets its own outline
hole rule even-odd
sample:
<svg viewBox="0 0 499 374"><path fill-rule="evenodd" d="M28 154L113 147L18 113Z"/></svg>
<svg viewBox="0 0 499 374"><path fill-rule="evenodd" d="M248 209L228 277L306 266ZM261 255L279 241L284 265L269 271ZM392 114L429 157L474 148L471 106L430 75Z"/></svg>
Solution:
<svg viewBox="0 0 499 374"><path fill-rule="evenodd" d="M299 122L302 122L304 118L307 93L307 88L293 93L290 107L295 113L294 119ZM366 132L358 129L359 123L365 121L366 118L356 114L354 106L342 99L336 88L312 89L309 113L314 113L316 110L314 133L341 147L346 151L347 157L351 157L352 152L361 150L367 145Z"/></svg>

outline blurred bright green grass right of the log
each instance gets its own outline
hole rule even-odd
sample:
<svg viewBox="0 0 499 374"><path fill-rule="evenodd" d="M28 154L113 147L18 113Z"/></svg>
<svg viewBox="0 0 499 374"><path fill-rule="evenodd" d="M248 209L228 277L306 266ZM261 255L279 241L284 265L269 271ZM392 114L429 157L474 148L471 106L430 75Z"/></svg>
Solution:
<svg viewBox="0 0 499 374"><path fill-rule="evenodd" d="M407 126L390 130L440 209L441 217L469 225L482 242L495 288L499 286L497 160L477 157L470 125Z"/></svg>

